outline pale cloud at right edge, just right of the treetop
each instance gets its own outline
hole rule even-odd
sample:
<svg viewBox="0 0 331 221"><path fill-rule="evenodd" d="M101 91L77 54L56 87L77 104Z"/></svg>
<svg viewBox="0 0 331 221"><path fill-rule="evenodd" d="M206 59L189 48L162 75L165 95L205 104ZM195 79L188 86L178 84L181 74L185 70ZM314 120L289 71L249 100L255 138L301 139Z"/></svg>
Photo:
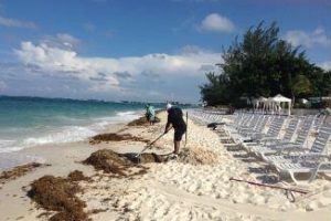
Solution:
<svg viewBox="0 0 331 221"><path fill-rule="evenodd" d="M331 38L327 35L322 28L317 28L312 32L291 30L285 34L284 39L290 42L293 46L331 46Z"/></svg>

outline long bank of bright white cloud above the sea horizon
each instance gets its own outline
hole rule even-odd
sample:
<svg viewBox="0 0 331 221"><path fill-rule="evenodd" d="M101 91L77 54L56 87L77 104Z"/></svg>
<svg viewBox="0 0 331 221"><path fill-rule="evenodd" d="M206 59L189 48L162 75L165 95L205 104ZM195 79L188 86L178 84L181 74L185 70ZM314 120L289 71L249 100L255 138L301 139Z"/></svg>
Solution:
<svg viewBox="0 0 331 221"><path fill-rule="evenodd" d="M194 46L190 49L194 50L174 55L159 53L118 59L82 57L73 50L54 48L46 43L22 42L15 54L24 64L38 66L49 75L75 77L87 82L90 85L89 91L118 92L127 87L145 87L147 81L156 82L154 77L150 76L158 76L160 84L164 81L172 84L185 77L202 80L206 67L212 71L215 69L214 64L220 63L220 53L206 52ZM158 88L162 85L152 86Z"/></svg>

